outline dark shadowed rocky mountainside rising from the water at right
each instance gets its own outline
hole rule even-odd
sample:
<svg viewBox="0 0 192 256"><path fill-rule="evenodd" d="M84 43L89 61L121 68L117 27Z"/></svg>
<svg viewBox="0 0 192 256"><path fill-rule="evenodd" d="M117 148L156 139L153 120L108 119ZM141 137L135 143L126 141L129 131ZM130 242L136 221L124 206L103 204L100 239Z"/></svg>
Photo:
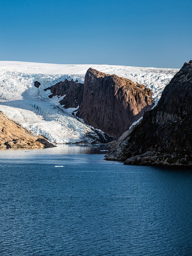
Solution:
<svg viewBox="0 0 192 256"><path fill-rule="evenodd" d="M165 87L157 106L124 133L106 160L138 165L192 165L192 61Z"/></svg>

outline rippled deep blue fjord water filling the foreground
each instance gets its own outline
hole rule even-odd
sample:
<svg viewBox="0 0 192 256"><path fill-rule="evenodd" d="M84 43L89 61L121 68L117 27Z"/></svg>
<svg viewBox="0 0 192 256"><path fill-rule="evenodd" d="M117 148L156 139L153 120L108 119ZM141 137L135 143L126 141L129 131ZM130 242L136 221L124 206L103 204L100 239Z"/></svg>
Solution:
<svg viewBox="0 0 192 256"><path fill-rule="evenodd" d="M192 254L192 171L101 150L0 151L1 256Z"/></svg>

